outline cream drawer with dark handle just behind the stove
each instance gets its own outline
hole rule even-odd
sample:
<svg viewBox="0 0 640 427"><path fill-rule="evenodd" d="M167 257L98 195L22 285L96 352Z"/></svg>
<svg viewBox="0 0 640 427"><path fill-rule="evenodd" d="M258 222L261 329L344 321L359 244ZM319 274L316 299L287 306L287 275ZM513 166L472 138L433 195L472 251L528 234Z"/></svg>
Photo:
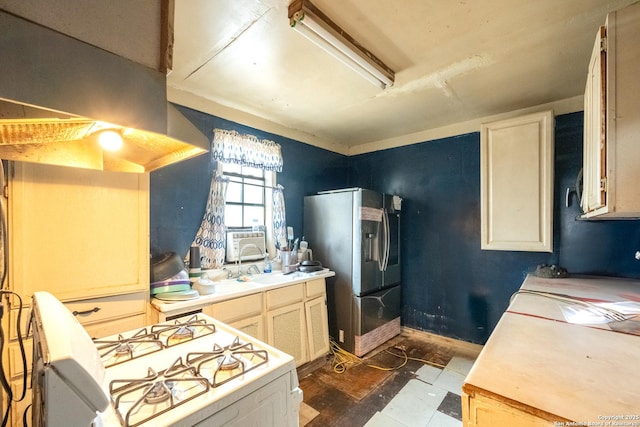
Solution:
<svg viewBox="0 0 640 427"><path fill-rule="evenodd" d="M116 295L65 302L80 323L89 324L104 320L144 313L147 305L146 292Z"/></svg>

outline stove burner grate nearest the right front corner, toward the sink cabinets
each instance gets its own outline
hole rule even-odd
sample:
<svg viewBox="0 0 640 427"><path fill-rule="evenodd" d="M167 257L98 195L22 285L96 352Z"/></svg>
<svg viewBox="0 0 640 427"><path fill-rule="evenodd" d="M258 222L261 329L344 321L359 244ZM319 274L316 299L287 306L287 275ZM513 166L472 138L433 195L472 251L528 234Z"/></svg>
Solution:
<svg viewBox="0 0 640 427"><path fill-rule="evenodd" d="M187 363L195 366L198 374L208 378L213 387L238 378L268 360L265 350L256 350L253 344L242 343L239 337L225 347L214 344L211 351L187 354Z"/></svg>

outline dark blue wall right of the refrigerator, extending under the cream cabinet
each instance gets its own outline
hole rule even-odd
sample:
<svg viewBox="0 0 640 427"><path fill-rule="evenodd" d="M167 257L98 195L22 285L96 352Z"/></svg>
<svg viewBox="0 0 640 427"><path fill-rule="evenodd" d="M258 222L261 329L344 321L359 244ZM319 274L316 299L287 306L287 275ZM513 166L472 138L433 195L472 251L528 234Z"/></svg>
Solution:
<svg viewBox="0 0 640 427"><path fill-rule="evenodd" d="M549 253L480 250L480 134L353 158L354 185L404 198L403 323L484 342L524 272Z"/></svg>

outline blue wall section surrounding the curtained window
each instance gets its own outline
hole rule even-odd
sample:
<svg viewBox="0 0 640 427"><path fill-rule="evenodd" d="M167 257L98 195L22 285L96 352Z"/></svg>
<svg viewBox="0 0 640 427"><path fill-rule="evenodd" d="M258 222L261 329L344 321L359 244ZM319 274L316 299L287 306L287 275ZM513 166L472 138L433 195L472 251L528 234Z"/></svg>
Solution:
<svg viewBox="0 0 640 427"><path fill-rule="evenodd" d="M287 225L302 233L304 196L327 188L340 188L347 181L348 158L308 144L242 126L219 117L176 106L209 140L213 129L236 130L282 147L284 166L278 184L284 188ZM213 177L209 154L185 160L151 173L150 247L156 255L173 251L185 256L202 222Z"/></svg>

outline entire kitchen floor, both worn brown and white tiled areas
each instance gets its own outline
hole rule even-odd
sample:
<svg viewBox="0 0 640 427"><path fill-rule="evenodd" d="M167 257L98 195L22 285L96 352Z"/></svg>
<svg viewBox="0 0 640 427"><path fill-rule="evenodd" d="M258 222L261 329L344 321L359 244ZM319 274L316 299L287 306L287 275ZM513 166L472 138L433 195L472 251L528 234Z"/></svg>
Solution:
<svg viewBox="0 0 640 427"><path fill-rule="evenodd" d="M403 333L388 346L396 353L394 348L401 347L409 356L392 372L350 366L336 374L328 358L311 373L299 374L304 402L317 412L306 427L461 427L461 387L479 349L452 347L415 333ZM384 349L369 361L398 365Z"/></svg>

